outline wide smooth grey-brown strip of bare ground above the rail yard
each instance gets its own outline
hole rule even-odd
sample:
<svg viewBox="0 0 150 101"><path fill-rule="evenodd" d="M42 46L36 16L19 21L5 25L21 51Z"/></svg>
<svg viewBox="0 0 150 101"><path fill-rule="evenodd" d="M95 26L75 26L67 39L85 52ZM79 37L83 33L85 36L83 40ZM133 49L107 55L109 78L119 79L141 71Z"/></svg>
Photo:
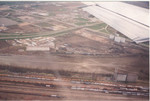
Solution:
<svg viewBox="0 0 150 101"><path fill-rule="evenodd" d="M141 57L112 58L50 54L44 56L1 55L0 64L33 69L64 70L99 74L113 74L117 67L121 71L137 73L139 77L142 76L142 78L148 79L148 57L141 59ZM144 74L142 75L140 72L141 70L144 71Z"/></svg>

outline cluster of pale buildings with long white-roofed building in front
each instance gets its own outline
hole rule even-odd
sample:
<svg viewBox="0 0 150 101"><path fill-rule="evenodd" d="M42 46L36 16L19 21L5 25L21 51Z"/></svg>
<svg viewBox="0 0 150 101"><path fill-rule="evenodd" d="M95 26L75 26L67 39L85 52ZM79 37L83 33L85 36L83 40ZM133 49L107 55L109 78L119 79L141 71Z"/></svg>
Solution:
<svg viewBox="0 0 150 101"><path fill-rule="evenodd" d="M32 39L15 39L12 44L15 46L25 46L26 51L50 51L55 49L55 38L37 37Z"/></svg>

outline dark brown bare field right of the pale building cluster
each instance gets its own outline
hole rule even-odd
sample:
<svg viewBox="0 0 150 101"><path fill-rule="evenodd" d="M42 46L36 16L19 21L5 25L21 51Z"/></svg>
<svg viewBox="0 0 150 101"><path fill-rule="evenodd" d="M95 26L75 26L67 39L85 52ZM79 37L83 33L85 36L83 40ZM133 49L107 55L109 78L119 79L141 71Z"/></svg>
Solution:
<svg viewBox="0 0 150 101"><path fill-rule="evenodd" d="M82 33L82 32L81 32ZM87 36L86 36L87 35ZM90 36L88 36L90 35ZM92 35L92 36L91 36ZM57 37L56 46L68 44L68 49L71 48L73 51L80 51L82 53L99 53L107 55L147 55L148 51L142 49L142 47L135 46L133 44L118 44L108 38L98 36L95 33L87 34L84 36L76 34L67 34L61 37Z"/></svg>

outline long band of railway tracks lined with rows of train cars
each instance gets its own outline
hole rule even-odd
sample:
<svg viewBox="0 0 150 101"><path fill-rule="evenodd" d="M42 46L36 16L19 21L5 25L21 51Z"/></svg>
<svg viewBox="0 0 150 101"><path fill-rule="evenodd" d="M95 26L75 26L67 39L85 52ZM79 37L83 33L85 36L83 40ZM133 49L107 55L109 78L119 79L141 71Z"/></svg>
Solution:
<svg viewBox="0 0 150 101"><path fill-rule="evenodd" d="M114 85L108 83L91 83L91 82L79 82L79 81L64 81L59 79L47 79L47 78L37 78L28 76L14 76L14 75L1 75L1 82L11 82L31 85L33 87L48 87L51 88L67 88L70 90L78 91L92 91L100 93L110 93L110 94L122 94L122 95L135 95L135 96L148 96L149 89L145 89L142 86L132 86L132 85ZM0 87L4 87L0 82ZM63 85L61 85L63 83ZM5 85L6 88L13 88L11 85ZM18 87L15 87L18 89ZM26 87L22 87L26 88ZM36 88L31 88L36 90ZM46 88L47 89L47 88ZM38 89L37 89L38 90Z"/></svg>

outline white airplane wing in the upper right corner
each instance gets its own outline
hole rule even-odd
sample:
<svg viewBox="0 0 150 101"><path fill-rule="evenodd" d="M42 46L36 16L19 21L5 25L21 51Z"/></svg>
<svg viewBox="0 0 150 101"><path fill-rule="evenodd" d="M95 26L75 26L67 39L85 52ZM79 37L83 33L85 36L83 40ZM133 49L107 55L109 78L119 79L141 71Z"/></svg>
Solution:
<svg viewBox="0 0 150 101"><path fill-rule="evenodd" d="M83 2L83 10L136 43L149 41L149 9L125 2Z"/></svg>

